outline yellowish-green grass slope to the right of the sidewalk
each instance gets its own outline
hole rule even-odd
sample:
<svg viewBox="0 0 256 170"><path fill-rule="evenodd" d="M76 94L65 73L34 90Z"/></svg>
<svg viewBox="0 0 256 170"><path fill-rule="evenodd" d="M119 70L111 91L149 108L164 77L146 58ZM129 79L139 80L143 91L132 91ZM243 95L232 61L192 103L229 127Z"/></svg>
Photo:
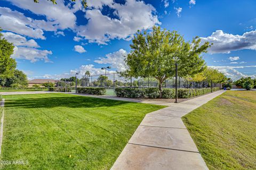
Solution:
<svg viewBox="0 0 256 170"><path fill-rule="evenodd" d="M256 91L227 91L182 119L210 169L256 169Z"/></svg>

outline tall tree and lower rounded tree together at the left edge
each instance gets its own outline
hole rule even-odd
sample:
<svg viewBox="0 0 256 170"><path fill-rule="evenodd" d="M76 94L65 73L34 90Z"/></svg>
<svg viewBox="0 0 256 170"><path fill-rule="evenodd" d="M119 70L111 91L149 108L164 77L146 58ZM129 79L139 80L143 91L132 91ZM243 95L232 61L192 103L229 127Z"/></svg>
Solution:
<svg viewBox="0 0 256 170"><path fill-rule="evenodd" d="M2 31L1 28L0 31ZM11 58L13 48L13 44L3 38L3 34L0 33L0 86L27 87L26 74L16 69L17 63Z"/></svg>

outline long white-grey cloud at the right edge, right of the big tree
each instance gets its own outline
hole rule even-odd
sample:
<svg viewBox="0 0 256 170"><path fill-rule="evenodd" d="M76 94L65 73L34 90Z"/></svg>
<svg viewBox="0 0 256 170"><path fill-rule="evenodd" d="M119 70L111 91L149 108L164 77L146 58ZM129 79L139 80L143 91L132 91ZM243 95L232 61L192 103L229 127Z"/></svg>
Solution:
<svg viewBox="0 0 256 170"><path fill-rule="evenodd" d="M256 30L243 35L233 35L217 30L209 37L201 37L202 43L213 43L210 53L230 53L237 50L256 50Z"/></svg>

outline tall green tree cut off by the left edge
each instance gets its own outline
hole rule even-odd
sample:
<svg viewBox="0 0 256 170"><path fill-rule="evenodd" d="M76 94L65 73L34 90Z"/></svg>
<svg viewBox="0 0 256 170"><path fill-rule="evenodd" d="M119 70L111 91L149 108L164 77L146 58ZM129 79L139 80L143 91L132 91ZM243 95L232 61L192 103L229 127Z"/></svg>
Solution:
<svg viewBox="0 0 256 170"><path fill-rule="evenodd" d="M1 28L0 31L2 31ZM3 38L3 34L0 33L0 81L2 85L6 78L13 77L17 65L16 61L11 58L13 48L13 44L7 42L7 40Z"/></svg>

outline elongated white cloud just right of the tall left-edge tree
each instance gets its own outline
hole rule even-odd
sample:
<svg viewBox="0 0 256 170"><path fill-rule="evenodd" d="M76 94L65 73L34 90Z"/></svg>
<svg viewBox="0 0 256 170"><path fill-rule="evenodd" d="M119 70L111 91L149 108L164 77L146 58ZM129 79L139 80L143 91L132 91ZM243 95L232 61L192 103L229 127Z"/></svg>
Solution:
<svg viewBox="0 0 256 170"><path fill-rule="evenodd" d="M52 52L47 50L38 50L36 48L15 46L13 49L13 54L11 56L15 59L30 60L30 62L36 62L39 60L43 60L44 62L51 62L48 58L48 55L51 54Z"/></svg>

